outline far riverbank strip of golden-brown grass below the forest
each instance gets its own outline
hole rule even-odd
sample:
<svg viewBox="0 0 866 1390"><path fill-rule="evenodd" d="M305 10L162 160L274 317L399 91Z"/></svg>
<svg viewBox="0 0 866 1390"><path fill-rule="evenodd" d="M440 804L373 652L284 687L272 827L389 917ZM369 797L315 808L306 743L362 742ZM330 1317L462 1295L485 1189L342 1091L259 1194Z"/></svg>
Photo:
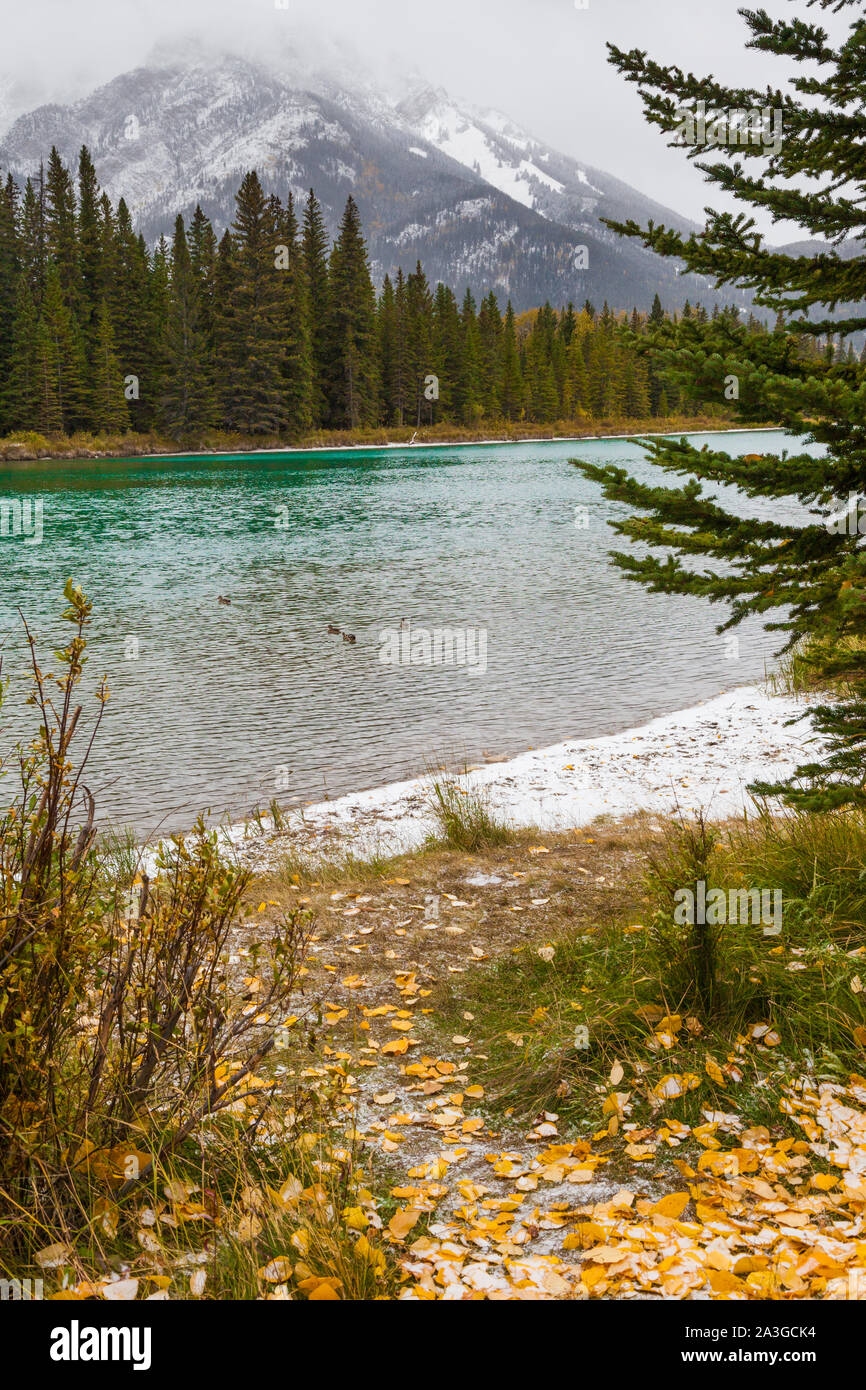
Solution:
<svg viewBox="0 0 866 1390"><path fill-rule="evenodd" d="M461 443L518 443L521 441L594 439L646 434L698 434L713 430L734 430L734 416L664 416L646 420L605 417L602 420L557 420L550 424L532 421L487 420L478 425L423 425L414 430L381 427L374 430L317 430L297 439L278 435L239 435L207 431L189 439L171 439L150 434L76 434L42 435L33 431L0 439L0 461L35 463L40 459L139 459L175 457L178 455L261 453L297 449L303 452L335 449L382 449L388 446L461 445ZM749 430L777 428L749 425Z"/></svg>

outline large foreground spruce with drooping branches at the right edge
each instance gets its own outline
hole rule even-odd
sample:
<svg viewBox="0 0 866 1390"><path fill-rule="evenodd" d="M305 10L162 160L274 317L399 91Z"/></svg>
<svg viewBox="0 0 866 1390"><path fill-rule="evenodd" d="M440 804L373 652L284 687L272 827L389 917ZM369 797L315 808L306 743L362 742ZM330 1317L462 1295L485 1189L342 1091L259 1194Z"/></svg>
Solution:
<svg viewBox="0 0 866 1390"><path fill-rule="evenodd" d="M689 157L726 195L774 220L798 222L824 239L817 254L771 250L746 214L708 213L706 227L685 236L670 228L635 222L610 225L642 240L662 256L677 256L688 271L719 285L751 289L756 304L781 311L796 335L840 341L866 329L866 21L853 0L819 0L824 10L852 10L847 38L833 43L803 18L773 19L742 11L749 46L773 53L805 71L790 90L731 89L666 68L639 50L610 49L612 61L638 85L651 122L689 142L688 103L705 100L713 111L760 111L781 117L781 140L758 129L748 143L691 143ZM817 70L812 65L817 64ZM694 108L692 108L694 113ZM776 122L776 115L773 117ZM708 128L709 128L708 121ZM714 129L714 125L713 125ZM853 254L841 254L848 238ZM845 247L847 249L847 247ZM830 317L834 311L844 317ZM759 794L781 794L790 803L827 809L866 802L866 520L848 510L848 498L866 496L866 370L860 361L798 353L798 336L766 334L730 316L701 320L691 310L662 342L667 359L687 370L702 389L724 396L737 382L734 409L745 420L776 420L794 441L792 452L731 457L696 449L685 439L655 441L645 448L683 486L638 484L626 470L578 463L601 482L606 496L644 512L613 523L632 542L651 548L642 557L616 555L628 578L652 591L691 594L730 606L721 630L749 614L787 634L785 648L801 639L817 644L826 673L842 680L842 695L815 709L816 730L830 742L823 760L803 763L794 778L759 783ZM662 327L660 334L664 334ZM801 441L824 446L820 457ZM727 484L760 499L765 520L751 520L719 503L703 484ZM774 513L766 503L781 503ZM803 524L783 520L785 506L812 516ZM778 514L781 512L781 516ZM835 517L835 520L834 520ZM666 552L664 559L656 550ZM695 560L709 557L719 569ZM780 612L781 610L781 612ZM769 614L776 613L776 617ZM823 653L823 655L822 655Z"/></svg>

